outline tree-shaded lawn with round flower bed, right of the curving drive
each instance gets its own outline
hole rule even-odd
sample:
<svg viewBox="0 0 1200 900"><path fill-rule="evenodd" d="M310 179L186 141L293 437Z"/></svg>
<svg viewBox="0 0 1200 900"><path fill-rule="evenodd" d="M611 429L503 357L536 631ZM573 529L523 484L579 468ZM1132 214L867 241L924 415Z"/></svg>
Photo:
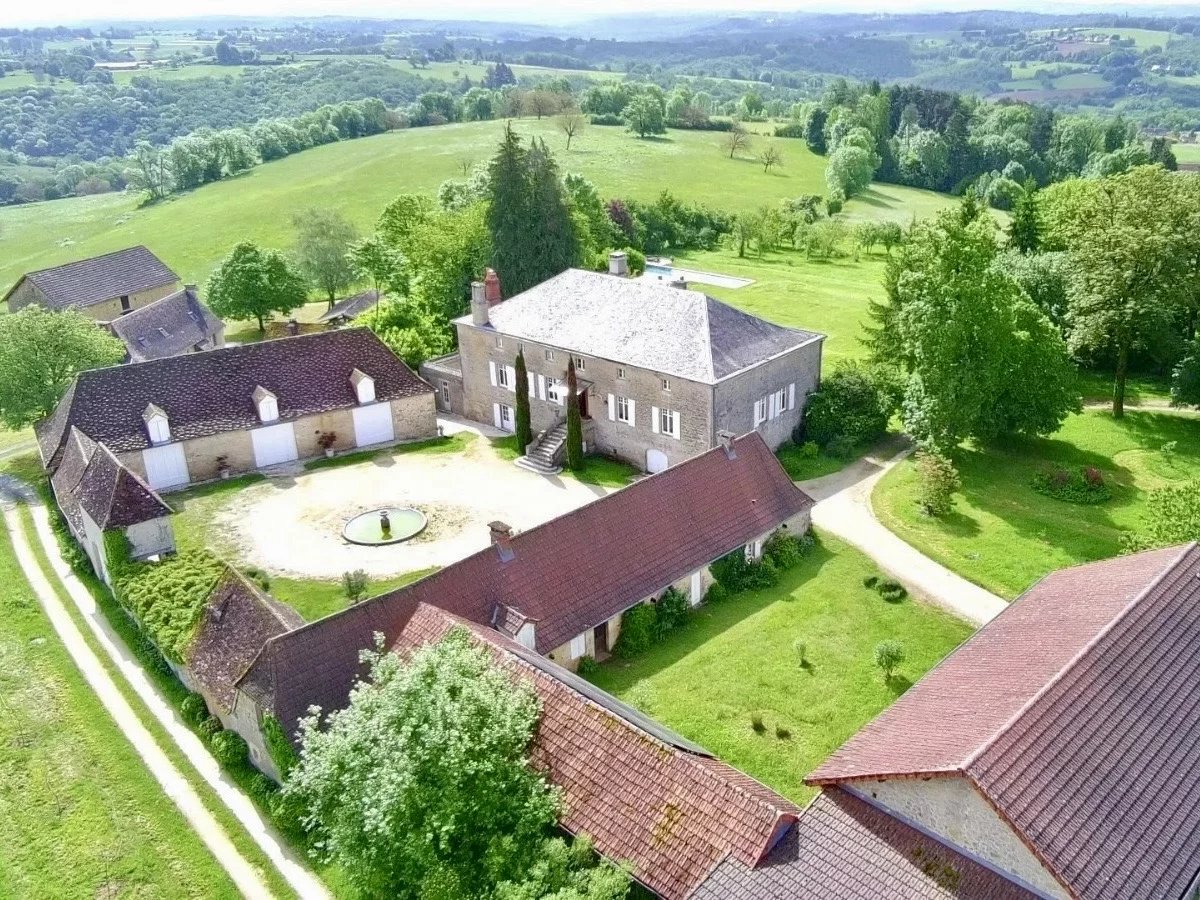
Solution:
<svg viewBox="0 0 1200 900"><path fill-rule="evenodd" d="M1172 454L1162 448L1176 442ZM1148 491L1200 475L1200 418L1150 410L1123 420L1087 410L1052 438L955 454L962 492L934 520L917 509L912 461L875 488L880 521L914 547L1001 596L1013 598L1062 566L1116 556L1121 533L1141 523ZM1112 498L1080 505L1044 497L1031 480L1054 467L1094 466Z"/></svg>

